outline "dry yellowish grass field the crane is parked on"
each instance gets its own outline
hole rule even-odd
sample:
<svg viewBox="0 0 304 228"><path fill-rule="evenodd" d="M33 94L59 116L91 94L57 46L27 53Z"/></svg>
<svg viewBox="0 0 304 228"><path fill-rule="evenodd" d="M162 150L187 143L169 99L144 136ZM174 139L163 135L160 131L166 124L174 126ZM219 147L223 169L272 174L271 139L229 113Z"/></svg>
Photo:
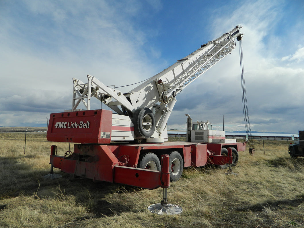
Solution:
<svg viewBox="0 0 304 228"><path fill-rule="evenodd" d="M162 188L146 190L50 170L50 145L37 134L0 134L0 227L302 227L304 159L289 157L286 141L254 141L255 154L240 152L233 168L185 168L168 190L180 215L155 215ZM68 150L56 143L58 154ZM264 154L265 148L265 154ZM62 152L60 152L62 151ZM63 155L63 154L62 154Z"/></svg>

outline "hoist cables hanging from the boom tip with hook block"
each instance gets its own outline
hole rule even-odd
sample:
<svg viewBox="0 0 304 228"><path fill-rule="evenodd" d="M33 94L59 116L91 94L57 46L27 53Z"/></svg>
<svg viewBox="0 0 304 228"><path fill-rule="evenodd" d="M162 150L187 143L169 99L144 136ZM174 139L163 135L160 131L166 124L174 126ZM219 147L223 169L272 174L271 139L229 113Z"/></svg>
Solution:
<svg viewBox="0 0 304 228"><path fill-rule="evenodd" d="M249 154L253 155L254 154L254 145L253 145L253 140L252 140L252 135L251 135L248 106L247 106L247 96L246 96L245 77L244 77L243 45L242 45L242 36L241 35L237 36L237 41L239 41L239 52L240 52L244 122L245 122L246 134L248 135Z"/></svg>

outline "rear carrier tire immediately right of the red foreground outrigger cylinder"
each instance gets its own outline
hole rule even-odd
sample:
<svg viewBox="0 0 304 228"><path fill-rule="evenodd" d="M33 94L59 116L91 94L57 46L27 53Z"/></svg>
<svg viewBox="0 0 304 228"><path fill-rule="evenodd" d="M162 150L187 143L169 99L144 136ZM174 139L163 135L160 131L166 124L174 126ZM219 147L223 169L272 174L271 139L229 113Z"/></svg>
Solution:
<svg viewBox="0 0 304 228"><path fill-rule="evenodd" d="M172 151L169 154L169 171L170 171L170 181L178 181L183 173L184 162L181 154L177 151Z"/></svg>

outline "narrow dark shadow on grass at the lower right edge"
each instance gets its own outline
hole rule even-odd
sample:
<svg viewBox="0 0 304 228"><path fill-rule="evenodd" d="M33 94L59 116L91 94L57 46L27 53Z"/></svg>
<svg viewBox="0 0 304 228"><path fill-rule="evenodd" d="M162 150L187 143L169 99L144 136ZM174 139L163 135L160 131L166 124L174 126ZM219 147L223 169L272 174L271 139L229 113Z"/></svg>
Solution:
<svg viewBox="0 0 304 228"><path fill-rule="evenodd" d="M290 208L297 207L301 203L304 202L304 195L299 195L295 199L282 199L282 200L275 200L271 201L268 200L263 203L257 203L252 206L237 208L237 211L264 211L266 208L270 208L271 210L278 210L278 209L284 209L284 208Z"/></svg>

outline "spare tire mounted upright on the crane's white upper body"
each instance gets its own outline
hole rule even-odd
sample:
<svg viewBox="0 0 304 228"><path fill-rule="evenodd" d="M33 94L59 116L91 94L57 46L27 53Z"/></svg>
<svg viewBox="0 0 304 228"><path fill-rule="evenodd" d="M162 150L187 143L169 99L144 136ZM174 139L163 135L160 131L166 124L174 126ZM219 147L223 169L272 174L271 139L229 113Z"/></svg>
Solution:
<svg viewBox="0 0 304 228"><path fill-rule="evenodd" d="M150 138L155 131L155 116L148 108L137 109L133 116L133 124L135 136Z"/></svg>

